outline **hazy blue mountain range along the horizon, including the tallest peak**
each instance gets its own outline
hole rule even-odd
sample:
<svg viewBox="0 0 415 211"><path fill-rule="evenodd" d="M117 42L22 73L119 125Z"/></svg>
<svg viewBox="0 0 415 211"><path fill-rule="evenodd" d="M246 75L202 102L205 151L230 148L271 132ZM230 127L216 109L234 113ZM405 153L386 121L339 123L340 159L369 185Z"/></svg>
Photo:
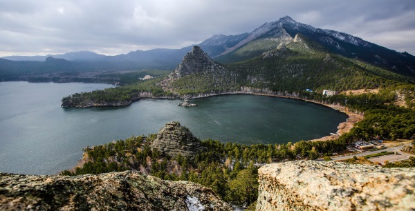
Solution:
<svg viewBox="0 0 415 211"><path fill-rule="evenodd" d="M214 35L199 43L198 46L214 61L229 64L254 59L269 50L282 48L293 42L296 34L304 35L307 39L322 46L326 52L339 54L355 61L364 61L405 77L415 77L415 57L412 54L396 52L343 32L313 28L313 26L296 22L288 16L278 21L264 23L252 32L228 36ZM0 59L0 77L50 71L138 70L143 68L172 70L181 62L183 56L192 50L192 47L136 50L116 56L82 51L34 57L3 57ZM55 59L53 63L50 62L52 59Z"/></svg>

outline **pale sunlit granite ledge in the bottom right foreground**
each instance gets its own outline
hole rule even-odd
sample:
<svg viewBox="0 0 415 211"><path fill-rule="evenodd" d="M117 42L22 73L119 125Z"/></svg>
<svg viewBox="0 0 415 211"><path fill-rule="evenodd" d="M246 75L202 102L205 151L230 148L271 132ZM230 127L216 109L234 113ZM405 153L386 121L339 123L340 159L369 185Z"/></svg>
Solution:
<svg viewBox="0 0 415 211"><path fill-rule="evenodd" d="M414 210L415 169L293 161L259 168L257 210Z"/></svg>

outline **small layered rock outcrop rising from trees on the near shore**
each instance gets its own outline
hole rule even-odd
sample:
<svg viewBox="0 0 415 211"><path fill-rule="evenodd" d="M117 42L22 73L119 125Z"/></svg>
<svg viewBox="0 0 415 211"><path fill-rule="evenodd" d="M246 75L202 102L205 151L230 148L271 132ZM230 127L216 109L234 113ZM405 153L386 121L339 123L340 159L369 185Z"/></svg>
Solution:
<svg viewBox="0 0 415 211"><path fill-rule="evenodd" d="M177 157L178 154L184 157L193 157L196 152L202 149L201 141L177 121L166 123L165 127L158 132L157 138L151 143L151 148L170 157Z"/></svg>

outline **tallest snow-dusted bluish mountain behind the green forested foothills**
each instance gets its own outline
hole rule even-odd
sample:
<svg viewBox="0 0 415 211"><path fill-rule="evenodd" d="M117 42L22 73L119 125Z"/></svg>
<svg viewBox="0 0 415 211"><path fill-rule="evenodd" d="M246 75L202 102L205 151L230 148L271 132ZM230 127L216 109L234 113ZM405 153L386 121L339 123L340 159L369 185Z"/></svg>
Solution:
<svg viewBox="0 0 415 211"><path fill-rule="evenodd" d="M293 42L297 34L303 34L333 54L365 61L405 76L415 76L415 57L407 52L396 52L343 32L313 28L288 16L265 23L250 32L246 39L222 52L215 60L232 63L252 59L277 46Z"/></svg>

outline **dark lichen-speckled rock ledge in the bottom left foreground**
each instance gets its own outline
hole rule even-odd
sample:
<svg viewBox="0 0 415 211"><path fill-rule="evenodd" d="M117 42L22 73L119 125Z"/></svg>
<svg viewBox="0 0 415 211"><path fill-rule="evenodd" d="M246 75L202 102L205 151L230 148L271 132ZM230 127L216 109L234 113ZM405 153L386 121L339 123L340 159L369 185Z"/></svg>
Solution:
<svg viewBox="0 0 415 211"><path fill-rule="evenodd" d="M232 210L212 190L139 172L68 176L0 173L0 210Z"/></svg>

